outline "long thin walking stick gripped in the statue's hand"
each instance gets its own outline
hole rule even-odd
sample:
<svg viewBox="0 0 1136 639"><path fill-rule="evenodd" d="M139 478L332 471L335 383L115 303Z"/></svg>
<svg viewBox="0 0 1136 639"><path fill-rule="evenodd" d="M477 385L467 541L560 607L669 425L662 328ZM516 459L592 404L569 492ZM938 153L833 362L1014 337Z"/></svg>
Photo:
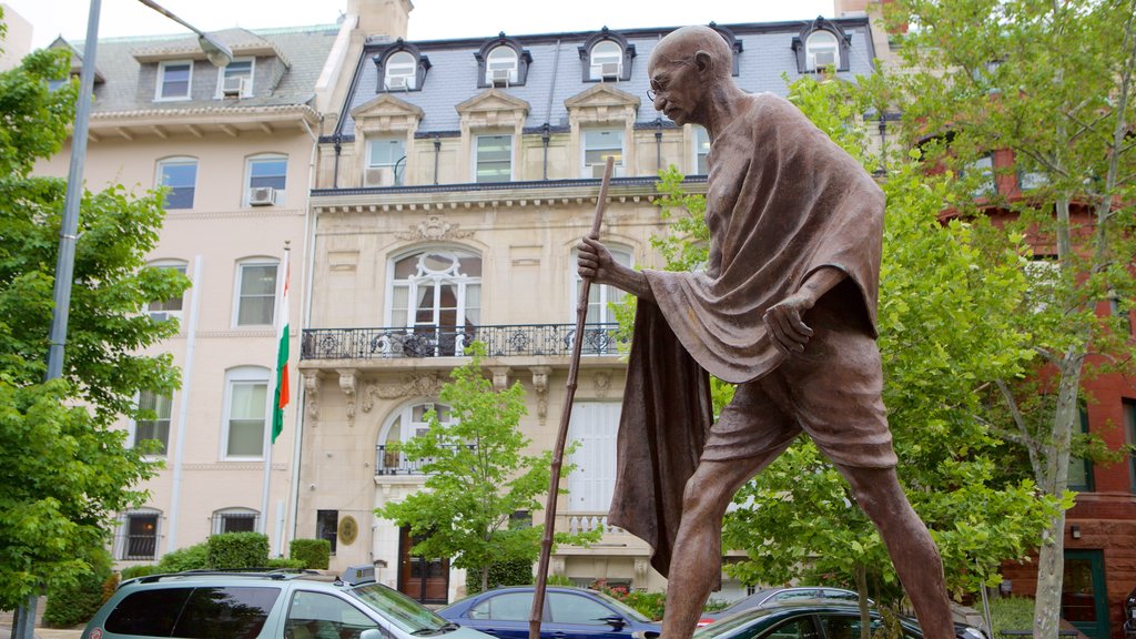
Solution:
<svg viewBox="0 0 1136 639"><path fill-rule="evenodd" d="M611 167L615 158L608 156L608 165L603 169L603 183L600 185L600 197L595 201L595 219L588 238L600 239L600 223L603 222L603 208L607 206L608 186L611 184ZM571 420L571 404L576 398L576 377L579 374L579 352L584 345L584 320L587 317L587 297L592 280L584 277L579 285L579 298L576 300L576 339L573 342L571 360L568 364L568 383L565 392L565 406L560 413L560 429L557 431L557 445L552 449L552 478L549 480L549 500L544 506L544 538L541 540L541 561L536 567L536 588L533 590L533 612L528 616L528 639L541 638L541 617L544 613L544 590L549 584L549 556L552 555L552 529L556 525L557 497L560 493L560 466L563 463L565 441L568 439L568 422Z"/></svg>

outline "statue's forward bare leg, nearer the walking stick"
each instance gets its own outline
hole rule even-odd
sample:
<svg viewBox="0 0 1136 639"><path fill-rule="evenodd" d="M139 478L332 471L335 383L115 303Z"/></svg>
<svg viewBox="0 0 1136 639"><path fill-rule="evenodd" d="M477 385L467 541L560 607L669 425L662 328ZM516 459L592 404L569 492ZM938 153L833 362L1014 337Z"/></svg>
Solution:
<svg viewBox="0 0 1136 639"><path fill-rule="evenodd" d="M699 463L683 493L683 518L667 582L662 639L690 639L721 565L721 520L734 493L784 447L758 457Z"/></svg>

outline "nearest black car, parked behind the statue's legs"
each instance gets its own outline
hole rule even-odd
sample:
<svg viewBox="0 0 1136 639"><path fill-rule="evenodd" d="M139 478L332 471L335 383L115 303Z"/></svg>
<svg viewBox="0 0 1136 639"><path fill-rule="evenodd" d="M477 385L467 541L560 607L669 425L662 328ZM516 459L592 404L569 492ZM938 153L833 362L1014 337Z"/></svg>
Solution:
<svg viewBox="0 0 1136 639"><path fill-rule="evenodd" d="M904 639L922 639L919 623L899 617ZM871 630L883 625L871 611ZM955 624L959 639L985 639L976 628ZM750 608L699 629L694 639L859 639L860 606L832 600L800 600Z"/></svg>

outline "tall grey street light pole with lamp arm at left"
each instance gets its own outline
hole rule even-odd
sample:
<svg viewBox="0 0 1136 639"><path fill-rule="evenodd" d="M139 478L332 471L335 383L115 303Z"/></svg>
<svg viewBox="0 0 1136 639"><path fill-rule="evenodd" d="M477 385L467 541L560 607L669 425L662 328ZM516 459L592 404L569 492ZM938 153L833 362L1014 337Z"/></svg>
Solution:
<svg viewBox="0 0 1136 639"><path fill-rule="evenodd" d="M198 34L198 43L215 66L233 61L233 52L223 42L186 23L153 0L139 0L147 7L173 19ZM91 102L94 96L94 58L99 44L99 15L102 0L91 0L86 22L86 42L83 43L83 66L78 76L78 98L75 105L75 128L72 132L72 157L64 197L64 218L59 226L59 256L56 262L53 289L55 309L51 315L51 334L48 347L48 370L44 381L62 376L64 346L67 343L67 321L70 316L70 292L75 277L75 241L78 233L78 205L83 199L83 165L86 160L87 130L91 123ZM34 639L35 608L39 598L33 594L16 612L11 639Z"/></svg>

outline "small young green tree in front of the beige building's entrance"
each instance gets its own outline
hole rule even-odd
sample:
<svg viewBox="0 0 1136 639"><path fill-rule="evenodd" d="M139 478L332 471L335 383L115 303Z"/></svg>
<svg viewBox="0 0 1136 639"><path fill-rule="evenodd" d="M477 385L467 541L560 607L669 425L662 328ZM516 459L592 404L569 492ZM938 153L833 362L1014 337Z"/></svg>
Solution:
<svg viewBox="0 0 1136 639"><path fill-rule="evenodd" d="M456 567L481 573L485 590L494 565L532 563L540 554L543 525L510 522L515 513L542 508L537 497L548 492L552 455L523 454L531 443L518 429L525 389L513 383L494 390L483 371L485 346L474 342L469 350L470 360L454 368L438 393L450 421L442 423L432 410L429 430L402 445L408 459L424 462L426 489L375 512L410 528L416 555L452 558ZM558 536L558 541L594 537Z"/></svg>

